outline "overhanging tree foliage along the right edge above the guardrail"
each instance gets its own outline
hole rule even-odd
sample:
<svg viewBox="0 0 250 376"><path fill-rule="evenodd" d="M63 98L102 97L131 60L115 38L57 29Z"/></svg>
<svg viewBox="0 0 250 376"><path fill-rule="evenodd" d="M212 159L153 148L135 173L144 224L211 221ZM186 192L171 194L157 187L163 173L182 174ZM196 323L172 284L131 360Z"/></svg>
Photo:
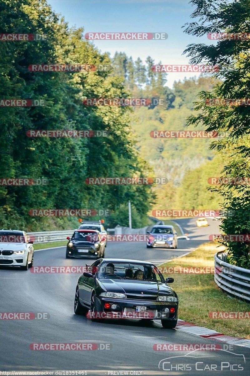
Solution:
<svg viewBox="0 0 250 376"><path fill-rule="evenodd" d="M250 32L250 2L218 1L217 8L211 2L192 0L197 8L193 17L200 16L198 23L186 25L186 32L191 35L205 35L213 31L228 33ZM191 44L185 51L194 64L209 61L220 65L215 76L222 82L217 83L212 91L202 91L196 102L195 114L187 123L190 126L203 124L208 131L228 131L228 137L214 141L211 149L230 155L222 170L222 177L249 177L249 106L208 106L209 98L248 99L250 92L250 39L221 40L216 45ZM233 210L235 215L222 220L221 229L226 234L246 234L249 228L249 185L220 185L214 190L223 197L224 208ZM250 245L247 242L223 242L228 247L232 263L249 268Z"/></svg>

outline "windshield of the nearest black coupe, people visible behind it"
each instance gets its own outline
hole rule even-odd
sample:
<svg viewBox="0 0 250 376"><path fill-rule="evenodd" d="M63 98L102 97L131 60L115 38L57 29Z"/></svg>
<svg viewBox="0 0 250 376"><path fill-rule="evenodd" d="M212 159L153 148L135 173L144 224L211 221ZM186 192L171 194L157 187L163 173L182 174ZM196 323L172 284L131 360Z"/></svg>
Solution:
<svg viewBox="0 0 250 376"><path fill-rule="evenodd" d="M150 280L164 283L164 278L156 266L134 262L104 262L99 268L97 278Z"/></svg>

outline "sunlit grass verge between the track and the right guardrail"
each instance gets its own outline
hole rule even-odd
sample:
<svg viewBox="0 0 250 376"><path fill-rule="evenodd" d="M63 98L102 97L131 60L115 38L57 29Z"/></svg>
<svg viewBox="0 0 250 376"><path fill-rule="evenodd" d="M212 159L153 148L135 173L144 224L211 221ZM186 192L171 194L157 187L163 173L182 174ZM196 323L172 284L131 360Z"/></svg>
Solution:
<svg viewBox="0 0 250 376"><path fill-rule="evenodd" d="M159 267L214 266L214 255L223 247L218 243L204 243L181 258L172 259ZM166 274L163 274L167 277ZM214 329L234 337L250 338L248 319L212 319L210 311L249 312L250 303L230 298L214 282L214 274L169 274L175 282L171 287L179 296L179 318L189 323Z"/></svg>

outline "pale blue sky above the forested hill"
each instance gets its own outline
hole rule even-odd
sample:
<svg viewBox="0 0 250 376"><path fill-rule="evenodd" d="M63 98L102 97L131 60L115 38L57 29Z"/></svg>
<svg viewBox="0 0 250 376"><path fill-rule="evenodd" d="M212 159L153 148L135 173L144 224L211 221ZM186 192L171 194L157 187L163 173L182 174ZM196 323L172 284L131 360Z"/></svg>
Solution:
<svg viewBox="0 0 250 376"><path fill-rule="evenodd" d="M166 32L160 41L94 41L101 52L125 52L135 60L145 61L148 55L155 64L188 64L181 55L186 45L211 42L207 37L187 35L181 28L190 22L195 9L189 0L47 0L56 13L61 13L69 26L84 27L86 32ZM193 21L193 20L192 20ZM195 73L169 73L167 85L175 80L193 77Z"/></svg>

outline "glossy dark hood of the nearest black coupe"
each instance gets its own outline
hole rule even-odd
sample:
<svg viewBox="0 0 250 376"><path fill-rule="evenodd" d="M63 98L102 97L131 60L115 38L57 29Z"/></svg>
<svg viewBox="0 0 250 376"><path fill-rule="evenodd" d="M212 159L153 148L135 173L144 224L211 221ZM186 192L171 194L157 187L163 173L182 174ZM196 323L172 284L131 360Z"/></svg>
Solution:
<svg viewBox="0 0 250 376"><path fill-rule="evenodd" d="M166 285L153 281L139 281L127 279L99 279L103 290L112 293L123 294L147 294L147 295L175 295L174 290Z"/></svg>

